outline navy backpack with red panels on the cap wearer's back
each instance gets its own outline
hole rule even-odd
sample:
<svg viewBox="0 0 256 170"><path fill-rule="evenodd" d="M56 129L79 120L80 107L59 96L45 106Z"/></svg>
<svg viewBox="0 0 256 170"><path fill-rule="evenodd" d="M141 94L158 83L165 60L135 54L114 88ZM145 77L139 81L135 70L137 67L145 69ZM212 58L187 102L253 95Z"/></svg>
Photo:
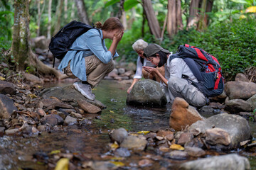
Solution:
<svg viewBox="0 0 256 170"><path fill-rule="evenodd" d="M193 72L198 83L191 81L206 97L214 97L223 93L224 78L218 60L201 48L190 45L179 45L176 54L170 60L180 57Z"/></svg>

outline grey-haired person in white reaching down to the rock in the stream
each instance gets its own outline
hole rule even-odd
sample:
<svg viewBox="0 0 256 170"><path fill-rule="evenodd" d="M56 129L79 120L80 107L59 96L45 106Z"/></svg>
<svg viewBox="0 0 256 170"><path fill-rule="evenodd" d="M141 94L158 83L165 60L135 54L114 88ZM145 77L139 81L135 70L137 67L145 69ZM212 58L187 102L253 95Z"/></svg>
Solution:
<svg viewBox="0 0 256 170"><path fill-rule="evenodd" d="M142 39L137 40L132 45L133 50L138 53L139 57L137 59L137 69L136 69L136 73L134 74L134 77L133 77L132 85L129 86L129 89L127 89L128 94L132 90L132 87L134 86L134 84L137 81L139 81L140 79L142 79L142 76L144 77L144 79L153 79L153 80L156 80L158 82L161 81L161 79L156 74L146 72L144 69L142 69L142 66L154 67L154 68L158 69L159 72L161 72L161 74L164 75L164 67L156 67L156 65L151 64L151 62L146 60L146 58L144 57L144 55L143 55L144 49L147 46L148 46L148 43L145 42Z"/></svg>

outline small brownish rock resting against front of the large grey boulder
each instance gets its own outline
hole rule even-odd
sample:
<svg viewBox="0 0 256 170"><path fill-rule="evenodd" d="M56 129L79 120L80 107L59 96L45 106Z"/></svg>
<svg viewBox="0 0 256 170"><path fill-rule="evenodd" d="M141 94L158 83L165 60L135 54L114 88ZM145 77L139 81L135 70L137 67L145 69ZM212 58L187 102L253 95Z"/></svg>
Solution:
<svg viewBox="0 0 256 170"><path fill-rule="evenodd" d="M206 142L210 145L230 145L230 135L223 129L206 130Z"/></svg>

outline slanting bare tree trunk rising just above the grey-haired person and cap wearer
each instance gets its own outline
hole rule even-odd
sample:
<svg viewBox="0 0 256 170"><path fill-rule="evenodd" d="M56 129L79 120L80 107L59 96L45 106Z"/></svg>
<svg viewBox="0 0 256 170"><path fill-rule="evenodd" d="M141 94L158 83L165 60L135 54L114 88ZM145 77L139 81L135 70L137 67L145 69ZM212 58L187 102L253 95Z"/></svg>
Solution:
<svg viewBox="0 0 256 170"><path fill-rule="evenodd" d="M149 24L151 33L155 36L156 40L161 38L161 29L159 26L159 21L157 21L156 15L154 13L153 6L150 0L142 0L143 8L146 13L146 19Z"/></svg>

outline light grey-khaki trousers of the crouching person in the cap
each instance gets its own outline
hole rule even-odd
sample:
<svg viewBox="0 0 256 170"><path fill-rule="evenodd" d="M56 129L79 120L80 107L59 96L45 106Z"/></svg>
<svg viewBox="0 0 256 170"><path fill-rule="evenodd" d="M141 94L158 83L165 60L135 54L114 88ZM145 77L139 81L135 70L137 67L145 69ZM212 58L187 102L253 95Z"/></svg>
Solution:
<svg viewBox="0 0 256 170"><path fill-rule="evenodd" d="M176 97L184 98L189 104L200 107L207 103L206 97L186 79L171 77L168 81L168 91L171 103ZM167 95L166 95L167 96Z"/></svg>

